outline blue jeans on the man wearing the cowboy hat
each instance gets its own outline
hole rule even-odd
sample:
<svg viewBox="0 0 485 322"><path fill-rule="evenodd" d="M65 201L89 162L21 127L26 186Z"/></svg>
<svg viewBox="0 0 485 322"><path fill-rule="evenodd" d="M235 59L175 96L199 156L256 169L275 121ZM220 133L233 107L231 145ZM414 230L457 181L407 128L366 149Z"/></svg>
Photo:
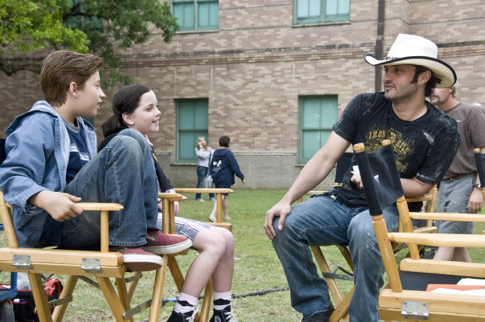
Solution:
<svg viewBox="0 0 485 322"><path fill-rule="evenodd" d="M342 204L332 190L310 197L292 206L283 230L273 222L276 238L273 247L283 265L294 310L303 317L325 312L330 305L328 286L318 274L308 246L349 245L354 265L355 291L349 306L350 321L377 322L377 298L384 284L384 265L380 256L372 218L367 206ZM384 211L389 231L398 228L398 211L390 206Z"/></svg>

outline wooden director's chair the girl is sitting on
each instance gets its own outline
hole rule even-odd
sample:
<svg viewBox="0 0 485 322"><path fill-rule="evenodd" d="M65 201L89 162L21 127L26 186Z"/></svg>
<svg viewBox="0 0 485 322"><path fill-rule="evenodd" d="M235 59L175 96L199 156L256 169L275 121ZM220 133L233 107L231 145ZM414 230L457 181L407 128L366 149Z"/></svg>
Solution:
<svg viewBox="0 0 485 322"><path fill-rule="evenodd" d="M226 189L226 188L177 188L174 189L177 193L159 193L159 198L162 201L162 213L163 213L163 224L162 224L162 231L164 233L175 233L175 204L174 202L182 202L187 198L184 195L180 195L179 193L214 193L217 195L217 219L218 222L209 222L208 224L212 224L214 226L220 226L229 231L232 231L232 224L228 222L222 222L222 193L232 193L233 190ZM176 256L177 255L185 255L187 251L183 253L173 254L164 257L164 266L162 267L164 274L166 272L166 268L170 269L170 273L173 276L173 280L175 281L175 285L179 292L182 290L182 286L184 285L184 276L180 267L177 263ZM212 287L212 280L209 280L205 289L204 289L204 299L202 300L202 307L200 310L200 314L195 315L195 322L208 322L209 321L209 314L212 302L212 294L213 294L213 287Z"/></svg>

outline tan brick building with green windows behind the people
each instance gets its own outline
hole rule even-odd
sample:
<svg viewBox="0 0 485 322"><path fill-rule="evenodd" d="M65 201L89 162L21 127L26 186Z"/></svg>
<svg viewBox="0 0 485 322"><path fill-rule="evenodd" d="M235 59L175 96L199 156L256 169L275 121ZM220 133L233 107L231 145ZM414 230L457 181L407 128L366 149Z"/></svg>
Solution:
<svg viewBox="0 0 485 322"><path fill-rule="evenodd" d="M177 187L196 184L195 138L206 134L218 147L226 134L248 188L288 188L347 102L381 90L380 69L363 57L379 53L380 44L385 56L398 33L438 44L439 57L457 71L459 100L485 103L483 0L172 0L172 6L183 28L170 44L154 33L118 54L125 73L157 94L161 126L150 139ZM41 60L39 53L21 57L26 70L0 75L2 129L42 99L31 71ZM98 133L111 114L114 89L106 93L94 118ZM319 188L331 186L331 177Z"/></svg>

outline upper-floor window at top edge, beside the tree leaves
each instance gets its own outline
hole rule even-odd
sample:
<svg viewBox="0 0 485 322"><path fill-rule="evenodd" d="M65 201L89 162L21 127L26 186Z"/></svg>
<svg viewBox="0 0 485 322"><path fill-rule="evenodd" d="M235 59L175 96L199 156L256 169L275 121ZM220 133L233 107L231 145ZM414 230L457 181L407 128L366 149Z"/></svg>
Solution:
<svg viewBox="0 0 485 322"><path fill-rule="evenodd" d="M181 31L217 30L219 1L172 0L172 15L177 17Z"/></svg>

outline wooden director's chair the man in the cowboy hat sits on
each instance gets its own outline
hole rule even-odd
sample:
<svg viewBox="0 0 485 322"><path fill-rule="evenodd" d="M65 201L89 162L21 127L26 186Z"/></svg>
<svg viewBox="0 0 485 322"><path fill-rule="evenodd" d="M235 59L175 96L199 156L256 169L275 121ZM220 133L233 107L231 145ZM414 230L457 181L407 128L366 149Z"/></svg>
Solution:
<svg viewBox="0 0 485 322"><path fill-rule="evenodd" d="M387 141L386 143L389 144L390 142ZM342 184L344 173L348 168L351 167L352 156L352 152L345 152L342 157L337 161L333 186L340 186L340 184ZM306 195L319 193L324 193L324 191L310 190L308 193L306 193ZM406 197L405 199L407 202L427 202L427 212L432 213L436 208L436 195L437 188L436 186L434 186L426 195L423 195L422 197ZM303 202L303 197L300 198L298 202ZM408 213L407 206L406 208L402 208L400 211ZM399 224L398 231L403 231L403 224ZM413 231L415 233L436 233L437 229L433 226L433 220L430 219L426 220L425 226L413 229ZM349 265L351 271L353 272L353 262L349 248L346 245L335 246L337 247L337 249L339 249L347 265ZM401 249L405 249L406 247L407 245L405 243L393 243L394 253L400 251ZM420 245L419 249L421 249L422 247L423 245ZM351 290L344 296L342 290L337 283L337 280L353 281L353 273L346 271L346 269L340 266L335 267L335 269L333 270L330 269L330 265L328 264L328 261L326 260L324 253L321 250L321 247L310 246L310 250L312 251L313 258L315 258L315 262L328 285L328 290L336 305L336 310L330 317L330 322L340 321L342 319L344 321L349 321L349 303L353 295L353 287L351 287ZM342 270L344 274L337 274L337 271L339 269Z"/></svg>

